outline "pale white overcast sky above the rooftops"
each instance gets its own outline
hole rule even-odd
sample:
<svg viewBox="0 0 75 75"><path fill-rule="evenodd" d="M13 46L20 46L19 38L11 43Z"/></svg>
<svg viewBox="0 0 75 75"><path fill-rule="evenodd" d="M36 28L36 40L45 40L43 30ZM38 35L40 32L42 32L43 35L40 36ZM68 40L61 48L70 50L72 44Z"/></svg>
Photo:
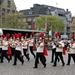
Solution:
<svg viewBox="0 0 75 75"><path fill-rule="evenodd" d="M49 6L57 6L63 9L69 9L72 16L75 15L75 0L14 0L17 10L30 9L33 4L45 4Z"/></svg>

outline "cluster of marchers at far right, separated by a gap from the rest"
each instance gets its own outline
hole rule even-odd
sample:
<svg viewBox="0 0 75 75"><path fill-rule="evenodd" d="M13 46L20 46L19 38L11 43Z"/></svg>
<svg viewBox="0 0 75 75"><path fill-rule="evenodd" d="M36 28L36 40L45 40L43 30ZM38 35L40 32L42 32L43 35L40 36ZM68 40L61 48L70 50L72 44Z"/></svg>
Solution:
<svg viewBox="0 0 75 75"><path fill-rule="evenodd" d="M56 38L56 40L51 41L52 45L52 56L51 63L54 63L53 66L57 66L58 62L61 60L62 66L65 65L63 55L68 53L67 64L70 65L71 57L73 58L75 64L75 39L71 40L62 40L60 37Z"/></svg>

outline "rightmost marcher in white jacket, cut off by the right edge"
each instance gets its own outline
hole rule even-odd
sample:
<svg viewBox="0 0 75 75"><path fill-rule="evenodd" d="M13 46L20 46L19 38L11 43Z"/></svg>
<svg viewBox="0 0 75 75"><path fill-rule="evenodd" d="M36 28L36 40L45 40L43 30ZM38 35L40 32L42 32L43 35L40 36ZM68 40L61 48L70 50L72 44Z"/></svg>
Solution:
<svg viewBox="0 0 75 75"><path fill-rule="evenodd" d="M71 57L73 58L74 64L75 64L75 39L73 39L72 42L69 43L67 47L67 52L68 52L68 62L66 65L70 65L71 62Z"/></svg>

